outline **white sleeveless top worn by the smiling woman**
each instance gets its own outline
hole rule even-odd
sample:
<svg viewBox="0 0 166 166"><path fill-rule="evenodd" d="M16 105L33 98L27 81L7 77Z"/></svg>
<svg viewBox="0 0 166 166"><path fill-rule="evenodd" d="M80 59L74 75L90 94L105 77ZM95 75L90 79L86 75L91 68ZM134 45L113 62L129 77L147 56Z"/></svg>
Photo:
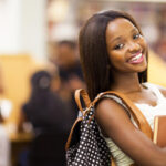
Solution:
<svg viewBox="0 0 166 166"><path fill-rule="evenodd" d="M137 104L135 105L141 110L143 115L146 117L147 122L151 125L151 128L154 131L154 117L156 115L166 115L166 97L163 96L160 91L155 84L152 83L143 83L144 86L149 89L157 97L157 104L156 106L151 106L148 104ZM122 104L122 101L115 96L107 95L106 97L114 98L117 103ZM125 105L123 105L125 107ZM135 124L133 117L131 121ZM135 124L136 125L136 124ZM104 136L103 136L104 137ZM134 162L124 154L121 148L111 139L104 137L104 139L107 143L107 146L111 151L111 154L113 155L113 158L115 159L116 166L129 166Z"/></svg>

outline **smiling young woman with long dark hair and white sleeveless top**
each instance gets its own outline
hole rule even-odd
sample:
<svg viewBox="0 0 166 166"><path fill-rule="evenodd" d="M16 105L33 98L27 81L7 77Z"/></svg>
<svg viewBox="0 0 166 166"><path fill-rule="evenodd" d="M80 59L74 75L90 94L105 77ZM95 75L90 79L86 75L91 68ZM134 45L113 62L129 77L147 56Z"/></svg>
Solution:
<svg viewBox="0 0 166 166"><path fill-rule="evenodd" d="M134 19L124 12L94 14L80 32L81 63L91 100L104 91L125 94L152 129L155 115L166 115L166 90L147 81L147 43ZM166 166L166 148L136 126L122 104L107 96L95 115L117 166Z"/></svg>

